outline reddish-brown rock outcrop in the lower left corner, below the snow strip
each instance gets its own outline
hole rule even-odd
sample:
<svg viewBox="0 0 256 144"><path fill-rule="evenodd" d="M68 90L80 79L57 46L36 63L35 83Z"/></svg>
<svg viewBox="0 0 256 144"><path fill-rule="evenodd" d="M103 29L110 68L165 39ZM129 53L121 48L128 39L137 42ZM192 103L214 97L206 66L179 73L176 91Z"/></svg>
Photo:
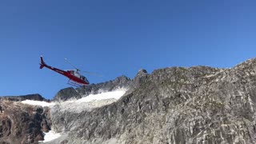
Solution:
<svg viewBox="0 0 256 144"><path fill-rule="evenodd" d="M0 100L0 143L25 144L43 140L50 130L49 109Z"/></svg>

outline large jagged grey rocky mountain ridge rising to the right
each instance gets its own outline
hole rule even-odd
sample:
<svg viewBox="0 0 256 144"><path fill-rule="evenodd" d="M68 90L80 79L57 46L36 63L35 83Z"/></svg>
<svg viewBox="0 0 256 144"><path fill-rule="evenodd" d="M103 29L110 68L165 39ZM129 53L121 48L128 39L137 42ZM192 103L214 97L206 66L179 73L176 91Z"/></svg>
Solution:
<svg viewBox="0 0 256 144"><path fill-rule="evenodd" d="M22 130L34 135L15 138L37 142L42 139L37 131L48 126L61 137L46 143L256 143L255 84L255 58L230 69L169 67L152 74L139 70L134 79L122 76L61 90L53 100L59 104L50 108L22 104L26 120L34 122L24 124ZM69 107L69 100L119 88L126 88L126 94L117 101L79 111ZM4 106L6 113L10 105ZM1 119L6 120L0 123L0 142L12 143L12 135L17 134L14 123L24 121L10 116Z"/></svg>

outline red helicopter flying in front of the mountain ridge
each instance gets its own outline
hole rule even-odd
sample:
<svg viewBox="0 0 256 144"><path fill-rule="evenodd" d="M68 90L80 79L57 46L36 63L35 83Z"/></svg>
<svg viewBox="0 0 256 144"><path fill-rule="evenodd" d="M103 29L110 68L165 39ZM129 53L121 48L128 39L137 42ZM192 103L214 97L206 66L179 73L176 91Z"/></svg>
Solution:
<svg viewBox="0 0 256 144"><path fill-rule="evenodd" d="M87 80L85 76L83 76L82 74L79 74L79 71L81 70L79 70L74 65L72 65L69 61L67 61L67 59L66 61L69 62L70 65L75 68L75 70L59 70L58 68L46 65L46 62L43 61L42 56L40 57L40 60L41 60L40 69L42 69L43 67L46 67L50 70L54 70L58 74L62 74L67 78L70 78L70 80L67 83L70 84L71 86L78 87L78 86L85 86L90 84L90 82ZM83 72L90 73L87 71L83 71Z"/></svg>

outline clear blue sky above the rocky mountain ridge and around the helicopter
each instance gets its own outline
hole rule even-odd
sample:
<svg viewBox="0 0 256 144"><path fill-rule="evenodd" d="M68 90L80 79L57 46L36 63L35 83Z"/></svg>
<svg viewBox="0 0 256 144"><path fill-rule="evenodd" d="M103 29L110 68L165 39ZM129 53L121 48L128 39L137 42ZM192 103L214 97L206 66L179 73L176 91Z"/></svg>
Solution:
<svg viewBox="0 0 256 144"><path fill-rule="evenodd" d="M0 95L53 98L72 69L91 83L168 66L232 67L256 56L256 2L8 0L0 2Z"/></svg>

